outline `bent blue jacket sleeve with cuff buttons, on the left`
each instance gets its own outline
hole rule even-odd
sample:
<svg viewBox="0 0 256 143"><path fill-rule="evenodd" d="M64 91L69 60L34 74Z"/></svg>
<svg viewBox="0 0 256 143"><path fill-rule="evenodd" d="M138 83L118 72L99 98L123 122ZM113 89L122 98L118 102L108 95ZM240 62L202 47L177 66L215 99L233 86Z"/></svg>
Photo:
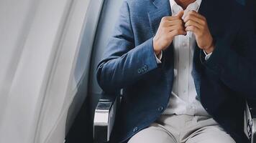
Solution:
<svg viewBox="0 0 256 143"><path fill-rule="evenodd" d="M155 68L152 38L135 46L129 5L124 1L114 35L97 66L97 81L105 92L115 92L132 85Z"/></svg>

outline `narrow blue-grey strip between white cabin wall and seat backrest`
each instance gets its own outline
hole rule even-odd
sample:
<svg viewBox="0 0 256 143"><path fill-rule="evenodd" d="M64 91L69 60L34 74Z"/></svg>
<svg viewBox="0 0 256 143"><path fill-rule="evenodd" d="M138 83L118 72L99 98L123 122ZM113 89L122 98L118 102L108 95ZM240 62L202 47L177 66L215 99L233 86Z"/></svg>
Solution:
<svg viewBox="0 0 256 143"><path fill-rule="evenodd" d="M79 45L75 70L73 72L73 82L76 83L77 91L68 109L67 133L87 97L91 52L103 4L104 1L99 2L93 0L88 3L86 19L84 20L83 31L81 33L81 44Z"/></svg>

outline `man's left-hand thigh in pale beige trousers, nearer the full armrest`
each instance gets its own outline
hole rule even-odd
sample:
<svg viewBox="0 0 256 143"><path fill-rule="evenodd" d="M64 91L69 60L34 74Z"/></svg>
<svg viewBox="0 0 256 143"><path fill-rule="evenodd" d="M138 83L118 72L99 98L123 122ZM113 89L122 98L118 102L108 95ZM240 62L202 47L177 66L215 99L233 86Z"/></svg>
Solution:
<svg viewBox="0 0 256 143"><path fill-rule="evenodd" d="M134 136L129 139L128 143L177 143L170 132L163 129L157 124L152 124L152 126L142 129L142 131L134 134Z"/></svg>

